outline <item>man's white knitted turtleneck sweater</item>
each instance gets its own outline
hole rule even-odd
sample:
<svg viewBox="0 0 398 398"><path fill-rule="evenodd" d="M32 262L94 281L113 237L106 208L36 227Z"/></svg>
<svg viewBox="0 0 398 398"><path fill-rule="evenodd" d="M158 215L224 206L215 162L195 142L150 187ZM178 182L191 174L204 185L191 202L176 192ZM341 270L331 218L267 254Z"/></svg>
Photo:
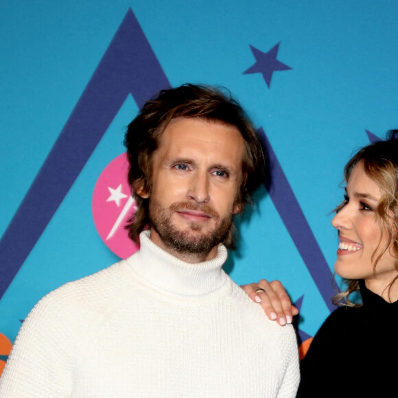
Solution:
<svg viewBox="0 0 398 398"><path fill-rule="evenodd" d="M294 397L294 330L225 274L226 248L188 264L140 239L127 260L39 301L0 397Z"/></svg>

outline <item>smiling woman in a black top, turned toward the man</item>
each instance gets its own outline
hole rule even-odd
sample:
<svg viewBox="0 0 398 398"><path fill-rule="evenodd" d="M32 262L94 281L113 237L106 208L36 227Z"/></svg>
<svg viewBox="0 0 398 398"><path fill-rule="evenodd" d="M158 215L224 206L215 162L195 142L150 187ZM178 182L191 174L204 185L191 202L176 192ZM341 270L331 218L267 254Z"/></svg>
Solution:
<svg viewBox="0 0 398 398"><path fill-rule="evenodd" d="M298 397L395 396L398 130L355 154L344 178L346 194L331 224L340 239L334 269L348 288L333 298L341 307L320 327L301 361ZM263 287L245 290L253 298ZM362 300L355 304L350 294L358 290Z"/></svg>

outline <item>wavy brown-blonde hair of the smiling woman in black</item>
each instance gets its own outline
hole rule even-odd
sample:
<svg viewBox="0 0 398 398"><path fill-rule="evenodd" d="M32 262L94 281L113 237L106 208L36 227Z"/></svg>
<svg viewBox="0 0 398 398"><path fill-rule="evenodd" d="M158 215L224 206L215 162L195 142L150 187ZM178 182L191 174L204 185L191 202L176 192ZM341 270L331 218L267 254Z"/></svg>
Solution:
<svg viewBox="0 0 398 398"><path fill-rule="evenodd" d="M390 130L386 141L378 141L359 150L344 167L344 180L348 183L353 167L362 163L366 176L371 178L382 190L375 217L379 224L382 235L379 244L372 255L373 272L376 272L379 259L391 248L395 257L395 268L398 271L398 130ZM337 207L339 211L344 204ZM380 248L384 234L387 235L386 244ZM397 277L388 285L388 294ZM358 279L347 280L347 290L333 296L333 304L360 307L362 304L353 303L349 299L351 293L359 290Z"/></svg>

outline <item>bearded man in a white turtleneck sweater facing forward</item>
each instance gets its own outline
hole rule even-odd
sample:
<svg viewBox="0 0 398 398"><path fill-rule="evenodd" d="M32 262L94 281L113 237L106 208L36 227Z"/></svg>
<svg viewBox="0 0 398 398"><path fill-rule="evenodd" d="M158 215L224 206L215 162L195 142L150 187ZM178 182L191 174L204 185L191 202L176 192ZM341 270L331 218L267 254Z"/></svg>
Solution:
<svg viewBox="0 0 398 398"><path fill-rule="evenodd" d="M294 397L291 326L222 270L233 215L264 178L242 108L187 84L143 106L125 139L137 212L126 261L51 292L27 317L1 397Z"/></svg>

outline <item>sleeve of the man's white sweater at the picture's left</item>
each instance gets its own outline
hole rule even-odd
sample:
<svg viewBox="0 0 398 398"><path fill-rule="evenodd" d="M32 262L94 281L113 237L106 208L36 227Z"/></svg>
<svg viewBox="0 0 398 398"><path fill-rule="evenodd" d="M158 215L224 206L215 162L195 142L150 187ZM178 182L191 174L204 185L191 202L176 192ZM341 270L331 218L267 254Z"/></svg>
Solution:
<svg viewBox="0 0 398 398"><path fill-rule="evenodd" d="M0 397L55 398L71 394L73 333L65 308L55 291L32 309L5 365Z"/></svg>

